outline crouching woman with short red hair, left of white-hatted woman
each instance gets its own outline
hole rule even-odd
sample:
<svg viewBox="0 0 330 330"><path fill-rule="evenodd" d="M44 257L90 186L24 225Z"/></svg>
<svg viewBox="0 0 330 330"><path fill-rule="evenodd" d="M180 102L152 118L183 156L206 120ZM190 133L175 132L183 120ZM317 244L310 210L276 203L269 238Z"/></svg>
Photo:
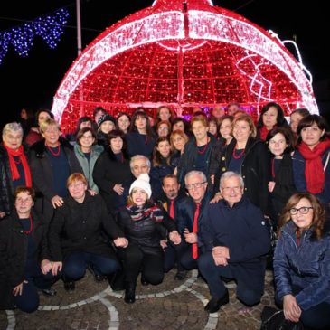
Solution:
<svg viewBox="0 0 330 330"><path fill-rule="evenodd" d="M104 240L103 232L117 247L128 244L102 197L92 196L87 185L83 174L69 176L70 195L56 210L48 234L52 274L62 270L67 291L74 290L74 281L83 278L89 267L103 276L119 269L115 251Z"/></svg>

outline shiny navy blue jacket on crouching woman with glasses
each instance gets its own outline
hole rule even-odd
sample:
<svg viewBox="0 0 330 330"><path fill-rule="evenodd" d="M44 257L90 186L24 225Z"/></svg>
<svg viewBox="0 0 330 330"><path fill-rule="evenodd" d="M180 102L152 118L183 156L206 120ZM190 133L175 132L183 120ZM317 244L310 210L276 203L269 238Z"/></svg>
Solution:
<svg viewBox="0 0 330 330"><path fill-rule="evenodd" d="M295 229L294 222L288 222L275 249L276 295L282 300L297 286L303 288L296 296L303 310L322 302L330 304L330 231L321 240L313 238L312 231L304 231L297 246Z"/></svg>

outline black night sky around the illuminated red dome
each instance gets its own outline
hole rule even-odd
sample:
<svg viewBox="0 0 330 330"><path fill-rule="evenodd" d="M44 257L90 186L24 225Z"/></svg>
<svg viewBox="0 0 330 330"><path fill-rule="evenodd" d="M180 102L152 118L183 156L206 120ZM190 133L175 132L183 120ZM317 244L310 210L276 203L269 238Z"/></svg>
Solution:
<svg viewBox="0 0 330 330"><path fill-rule="evenodd" d="M111 24L152 3L153 0L80 0L82 48ZM326 3L316 0L305 6L301 1L293 0L213 0L214 5L235 11L265 30L273 30L281 40L297 38L303 62L314 77L317 104L321 114L329 120L330 67L325 51L329 14ZM56 49L48 48L41 39L34 39L29 57L22 58L10 47L0 65L1 126L17 119L21 108L33 111L52 108L52 97L77 57L75 5L75 0L1 2L0 32L38 16L52 14L63 6L70 12Z"/></svg>

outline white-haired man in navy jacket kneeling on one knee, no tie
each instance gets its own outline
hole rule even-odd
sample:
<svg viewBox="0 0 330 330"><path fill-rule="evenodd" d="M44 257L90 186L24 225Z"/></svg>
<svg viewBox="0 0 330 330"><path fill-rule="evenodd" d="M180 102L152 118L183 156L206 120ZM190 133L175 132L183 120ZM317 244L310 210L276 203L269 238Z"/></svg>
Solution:
<svg viewBox="0 0 330 330"><path fill-rule="evenodd" d="M259 303L270 247L263 213L243 196L240 174L222 174L220 186L223 199L211 204L205 214L201 230L205 252L198 259L212 295L205 306L209 313L217 312L229 302L228 289L221 277L236 280L236 295L243 304Z"/></svg>

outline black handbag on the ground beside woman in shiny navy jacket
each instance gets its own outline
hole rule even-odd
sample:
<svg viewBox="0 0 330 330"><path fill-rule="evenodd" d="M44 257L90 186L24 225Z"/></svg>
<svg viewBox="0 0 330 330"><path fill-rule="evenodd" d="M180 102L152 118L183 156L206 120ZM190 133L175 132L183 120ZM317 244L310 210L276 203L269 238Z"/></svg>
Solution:
<svg viewBox="0 0 330 330"><path fill-rule="evenodd" d="M295 323L286 320L282 310L264 306L261 312L260 330L304 330L304 325L300 321Z"/></svg>

